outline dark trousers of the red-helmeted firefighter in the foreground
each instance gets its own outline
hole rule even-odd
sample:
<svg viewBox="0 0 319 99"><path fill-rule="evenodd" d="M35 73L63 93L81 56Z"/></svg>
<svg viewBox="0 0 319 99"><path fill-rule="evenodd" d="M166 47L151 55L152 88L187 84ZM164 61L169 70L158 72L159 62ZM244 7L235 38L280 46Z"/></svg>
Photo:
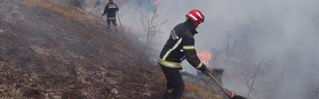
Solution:
<svg viewBox="0 0 319 99"><path fill-rule="evenodd" d="M159 64L167 80L162 99L180 99L185 85L179 73L180 68L169 68Z"/></svg>

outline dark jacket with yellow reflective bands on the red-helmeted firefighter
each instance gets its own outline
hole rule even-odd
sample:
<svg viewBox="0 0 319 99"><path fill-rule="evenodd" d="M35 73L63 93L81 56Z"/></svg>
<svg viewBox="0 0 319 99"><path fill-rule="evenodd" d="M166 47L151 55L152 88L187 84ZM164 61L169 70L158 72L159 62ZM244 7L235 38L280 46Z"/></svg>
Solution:
<svg viewBox="0 0 319 99"><path fill-rule="evenodd" d="M205 70L194 47L194 35L198 32L191 22L185 21L176 25L170 32L169 39L160 52L159 64L170 68L181 68L181 62L186 60L196 69Z"/></svg>

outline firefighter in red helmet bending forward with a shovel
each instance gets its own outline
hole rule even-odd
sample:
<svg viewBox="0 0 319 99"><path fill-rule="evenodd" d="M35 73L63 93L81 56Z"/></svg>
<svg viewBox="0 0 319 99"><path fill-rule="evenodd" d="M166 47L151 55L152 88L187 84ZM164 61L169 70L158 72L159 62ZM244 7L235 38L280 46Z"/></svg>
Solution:
<svg viewBox="0 0 319 99"><path fill-rule="evenodd" d="M170 32L169 39L160 52L159 65L167 80L162 99L180 99L184 92L184 82L179 73L181 62L186 59L193 67L208 75L209 70L203 64L194 47L196 27L204 22L204 15L197 9L191 10L186 21L176 25Z"/></svg>

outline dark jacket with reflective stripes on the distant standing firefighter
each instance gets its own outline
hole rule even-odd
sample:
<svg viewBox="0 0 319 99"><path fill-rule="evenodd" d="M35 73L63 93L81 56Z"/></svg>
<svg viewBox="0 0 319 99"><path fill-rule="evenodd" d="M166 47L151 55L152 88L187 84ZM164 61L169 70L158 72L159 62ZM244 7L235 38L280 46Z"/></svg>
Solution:
<svg viewBox="0 0 319 99"><path fill-rule="evenodd" d="M116 19L116 11L119 11L118 5L114 2L109 2L105 8L103 14L107 14L108 19Z"/></svg>

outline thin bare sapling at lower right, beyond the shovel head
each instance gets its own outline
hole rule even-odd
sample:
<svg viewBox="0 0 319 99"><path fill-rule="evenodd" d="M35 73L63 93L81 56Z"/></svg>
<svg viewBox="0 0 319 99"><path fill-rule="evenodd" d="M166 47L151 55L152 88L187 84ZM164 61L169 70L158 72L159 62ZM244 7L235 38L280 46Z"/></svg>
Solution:
<svg viewBox="0 0 319 99"><path fill-rule="evenodd" d="M249 89L248 95L247 95L247 99L249 98L250 93L257 93L257 91L255 91L255 87L253 87L253 86L254 86L254 83L255 83L257 77L264 75L264 74L261 74L261 73L260 73L260 72L262 71L262 69L261 69L260 66L261 66L261 64L263 63L263 61L264 61L264 60L262 60L262 61L258 64L257 67L256 67L256 65L254 64L254 65L253 65L254 68L255 68L254 74L253 74L253 75L246 75L245 78L244 78L245 81L246 81L246 85L247 85L247 87L248 87L248 89Z"/></svg>

